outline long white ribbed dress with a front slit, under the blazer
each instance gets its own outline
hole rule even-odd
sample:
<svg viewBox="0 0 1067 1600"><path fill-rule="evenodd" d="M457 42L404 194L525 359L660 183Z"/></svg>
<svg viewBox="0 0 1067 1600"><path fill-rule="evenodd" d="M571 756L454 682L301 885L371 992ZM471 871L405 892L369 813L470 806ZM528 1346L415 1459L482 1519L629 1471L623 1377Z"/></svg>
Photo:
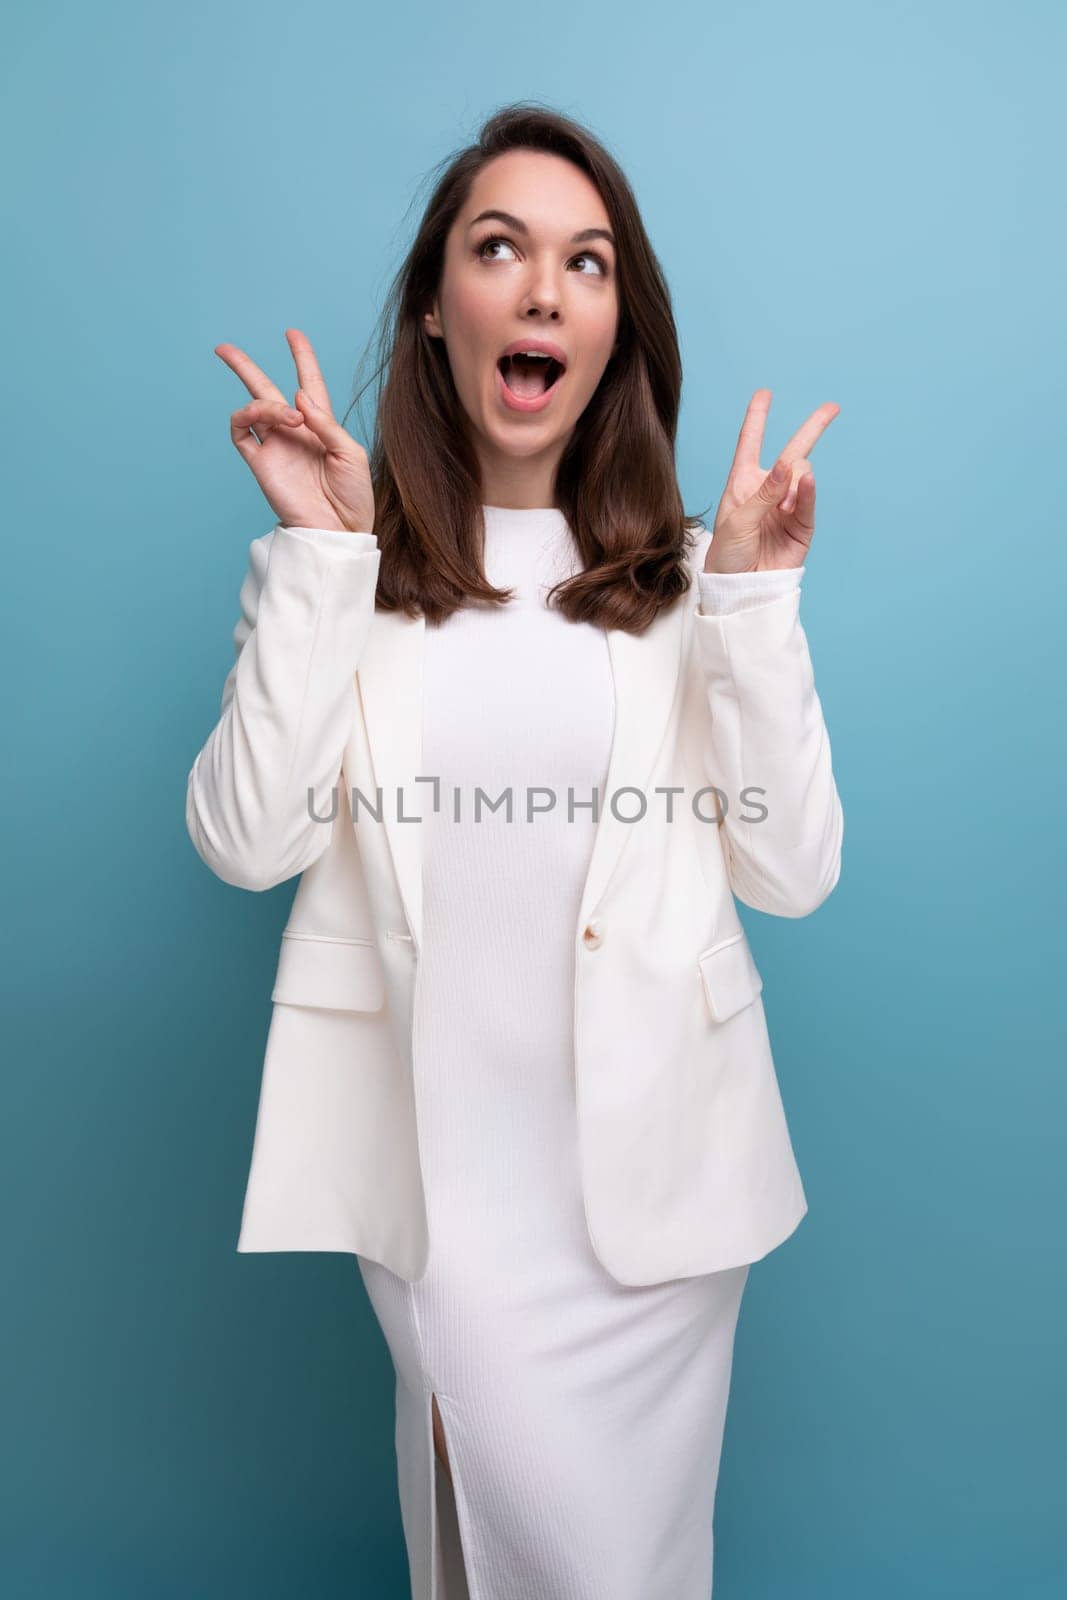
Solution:
<svg viewBox="0 0 1067 1600"><path fill-rule="evenodd" d="M603 795L611 664L600 627L544 603L576 570L563 514L488 506L485 520L486 574L515 598L426 630L422 771L442 779L419 824L429 1267L406 1283L358 1258L397 1371L413 1600L709 1600L749 1267L624 1286L592 1251L573 952L593 822L589 806L568 821L566 795ZM486 803L509 786L510 821ZM555 810L528 821L528 787Z"/></svg>

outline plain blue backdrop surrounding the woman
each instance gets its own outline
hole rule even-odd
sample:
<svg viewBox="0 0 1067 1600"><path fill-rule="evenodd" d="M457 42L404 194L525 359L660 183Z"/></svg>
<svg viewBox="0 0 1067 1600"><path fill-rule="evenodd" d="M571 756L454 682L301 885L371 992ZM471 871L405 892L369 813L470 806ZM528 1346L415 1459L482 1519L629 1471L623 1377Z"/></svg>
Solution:
<svg viewBox="0 0 1067 1600"><path fill-rule="evenodd" d="M213 346L291 395L302 328L341 414L430 168L512 99L632 178L691 510L757 387L766 464L841 406L803 618L845 867L816 917L744 912L811 1210L742 1306L715 1600L1064 1594L1064 32L931 0L8 19L8 1600L408 1592L355 1259L234 1251L294 885L224 886L184 829L274 523Z"/></svg>

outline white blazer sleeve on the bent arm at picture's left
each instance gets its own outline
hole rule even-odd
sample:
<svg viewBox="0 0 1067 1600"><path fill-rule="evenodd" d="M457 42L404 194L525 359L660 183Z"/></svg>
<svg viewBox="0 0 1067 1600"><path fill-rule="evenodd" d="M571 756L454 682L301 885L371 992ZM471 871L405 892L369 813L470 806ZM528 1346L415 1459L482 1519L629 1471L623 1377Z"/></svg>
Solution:
<svg viewBox="0 0 1067 1600"><path fill-rule="evenodd" d="M278 525L250 546L221 715L186 787L189 837L224 883L274 888L330 845L315 818L336 808L379 565L373 533Z"/></svg>

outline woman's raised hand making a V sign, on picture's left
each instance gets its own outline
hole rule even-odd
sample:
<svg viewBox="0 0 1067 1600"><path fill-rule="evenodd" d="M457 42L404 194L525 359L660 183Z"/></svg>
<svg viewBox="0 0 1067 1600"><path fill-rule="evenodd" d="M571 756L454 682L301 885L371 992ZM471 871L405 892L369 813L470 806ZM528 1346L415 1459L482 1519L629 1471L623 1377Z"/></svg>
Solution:
<svg viewBox="0 0 1067 1600"><path fill-rule="evenodd" d="M301 381L299 410L235 344L216 344L214 354L253 397L232 413L230 438L283 526L373 533L374 488L366 451L334 419L310 341L299 328L286 328L285 336Z"/></svg>

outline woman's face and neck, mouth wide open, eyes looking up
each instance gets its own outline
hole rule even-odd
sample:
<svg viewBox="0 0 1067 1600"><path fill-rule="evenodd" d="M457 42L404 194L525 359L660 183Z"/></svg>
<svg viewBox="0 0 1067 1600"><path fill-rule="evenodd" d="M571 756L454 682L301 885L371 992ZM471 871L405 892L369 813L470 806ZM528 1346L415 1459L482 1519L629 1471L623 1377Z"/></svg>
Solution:
<svg viewBox="0 0 1067 1600"><path fill-rule="evenodd" d="M614 243L597 187L558 155L498 155L453 222L426 314L427 333L448 350L486 504L555 504L555 469L611 358L617 322ZM537 341L558 349L563 373L552 382L558 366L504 363L506 387L504 352Z"/></svg>

